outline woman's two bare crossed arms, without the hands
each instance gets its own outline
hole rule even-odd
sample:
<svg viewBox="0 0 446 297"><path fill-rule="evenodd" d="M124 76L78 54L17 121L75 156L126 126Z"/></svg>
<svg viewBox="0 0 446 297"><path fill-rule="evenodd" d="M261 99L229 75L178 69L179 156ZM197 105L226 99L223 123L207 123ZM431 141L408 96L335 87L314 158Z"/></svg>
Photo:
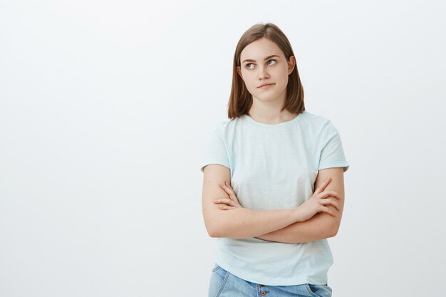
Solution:
<svg viewBox="0 0 446 297"><path fill-rule="evenodd" d="M334 216L318 212L311 219L296 222L299 219L299 207L265 211L247 208L219 209L219 204L215 204L214 199L229 198L229 194L219 184L230 181L230 171L222 165L207 165L204 167L202 192L202 211L207 232L212 237L256 237L284 243L304 243L336 236L344 205L343 168L319 170L314 189L327 177L331 177L331 182L326 189L336 191L342 197L337 200L339 210L327 205Z"/></svg>

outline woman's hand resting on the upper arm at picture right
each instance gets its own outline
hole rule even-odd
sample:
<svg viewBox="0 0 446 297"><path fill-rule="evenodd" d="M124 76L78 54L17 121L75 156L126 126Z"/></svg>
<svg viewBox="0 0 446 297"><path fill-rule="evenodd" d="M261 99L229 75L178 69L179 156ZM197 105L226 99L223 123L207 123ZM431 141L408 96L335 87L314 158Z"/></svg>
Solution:
<svg viewBox="0 0 446 297"><path fill-rule="evenodd" d="M336 202L336 199L341 199L341 195L333 190L325 190L330 182L331 177L328 177L321 184L321 187L318 187L316 191L314 191L314 194L308 198L306 202L302 203L296 208L296 212L298 212L299 217L298 222L304 222L307 219L311 219L311 217L318 212L327 212L333 217L335 216L334 212L325 205L333 205L333 207L336 207L336 209L339 210L339 205L338 202Z"/></svg>

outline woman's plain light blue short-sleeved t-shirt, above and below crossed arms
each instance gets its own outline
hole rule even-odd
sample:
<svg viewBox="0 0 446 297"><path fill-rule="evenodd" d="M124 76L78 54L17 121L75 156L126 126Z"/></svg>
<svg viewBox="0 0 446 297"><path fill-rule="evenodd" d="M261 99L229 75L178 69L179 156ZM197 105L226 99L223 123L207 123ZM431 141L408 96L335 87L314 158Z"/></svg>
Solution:
<svg viewBox="0 0 446 297"><path fill-rule="evenodd" d="M336 127L306 111L279 124L259 123L249 115L217 124L201 170L209 164L228 167L240 204L256 210L298 207L313 194L318 170L343 167L346 172L349 167ZM328 283L333 258L327 239L285 244L217 238L216 263L246 281L291 286Z"/></svg>

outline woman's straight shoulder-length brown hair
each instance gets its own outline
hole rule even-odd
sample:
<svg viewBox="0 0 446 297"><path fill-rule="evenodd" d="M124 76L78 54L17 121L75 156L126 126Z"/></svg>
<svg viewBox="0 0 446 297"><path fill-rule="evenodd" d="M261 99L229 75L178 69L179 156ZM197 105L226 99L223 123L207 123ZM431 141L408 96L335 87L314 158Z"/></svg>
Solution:
<svg viewBox="0 0 446 297"><path fill-rule="evenodd" d="M276 43L277 46L284 52L286 61L289 61L290 56L294 56L293 49L281 29L271 23L255 24L245 31L237 43L237 48L234 53L234 65L232 68L232 87L229 95L228 117L230 119L239 118L241 115L247 115L252 105L252 95L249 93L242 77L237 73L237 66L240 66L240 54L243 49L260 38L268 38L270 41ZM286 100L282 110L289 110L291 113L300 114L305 110L304 105L304 88L302 87L301 79L297 66L289 75L288 85L286 85Z"/></svg>

